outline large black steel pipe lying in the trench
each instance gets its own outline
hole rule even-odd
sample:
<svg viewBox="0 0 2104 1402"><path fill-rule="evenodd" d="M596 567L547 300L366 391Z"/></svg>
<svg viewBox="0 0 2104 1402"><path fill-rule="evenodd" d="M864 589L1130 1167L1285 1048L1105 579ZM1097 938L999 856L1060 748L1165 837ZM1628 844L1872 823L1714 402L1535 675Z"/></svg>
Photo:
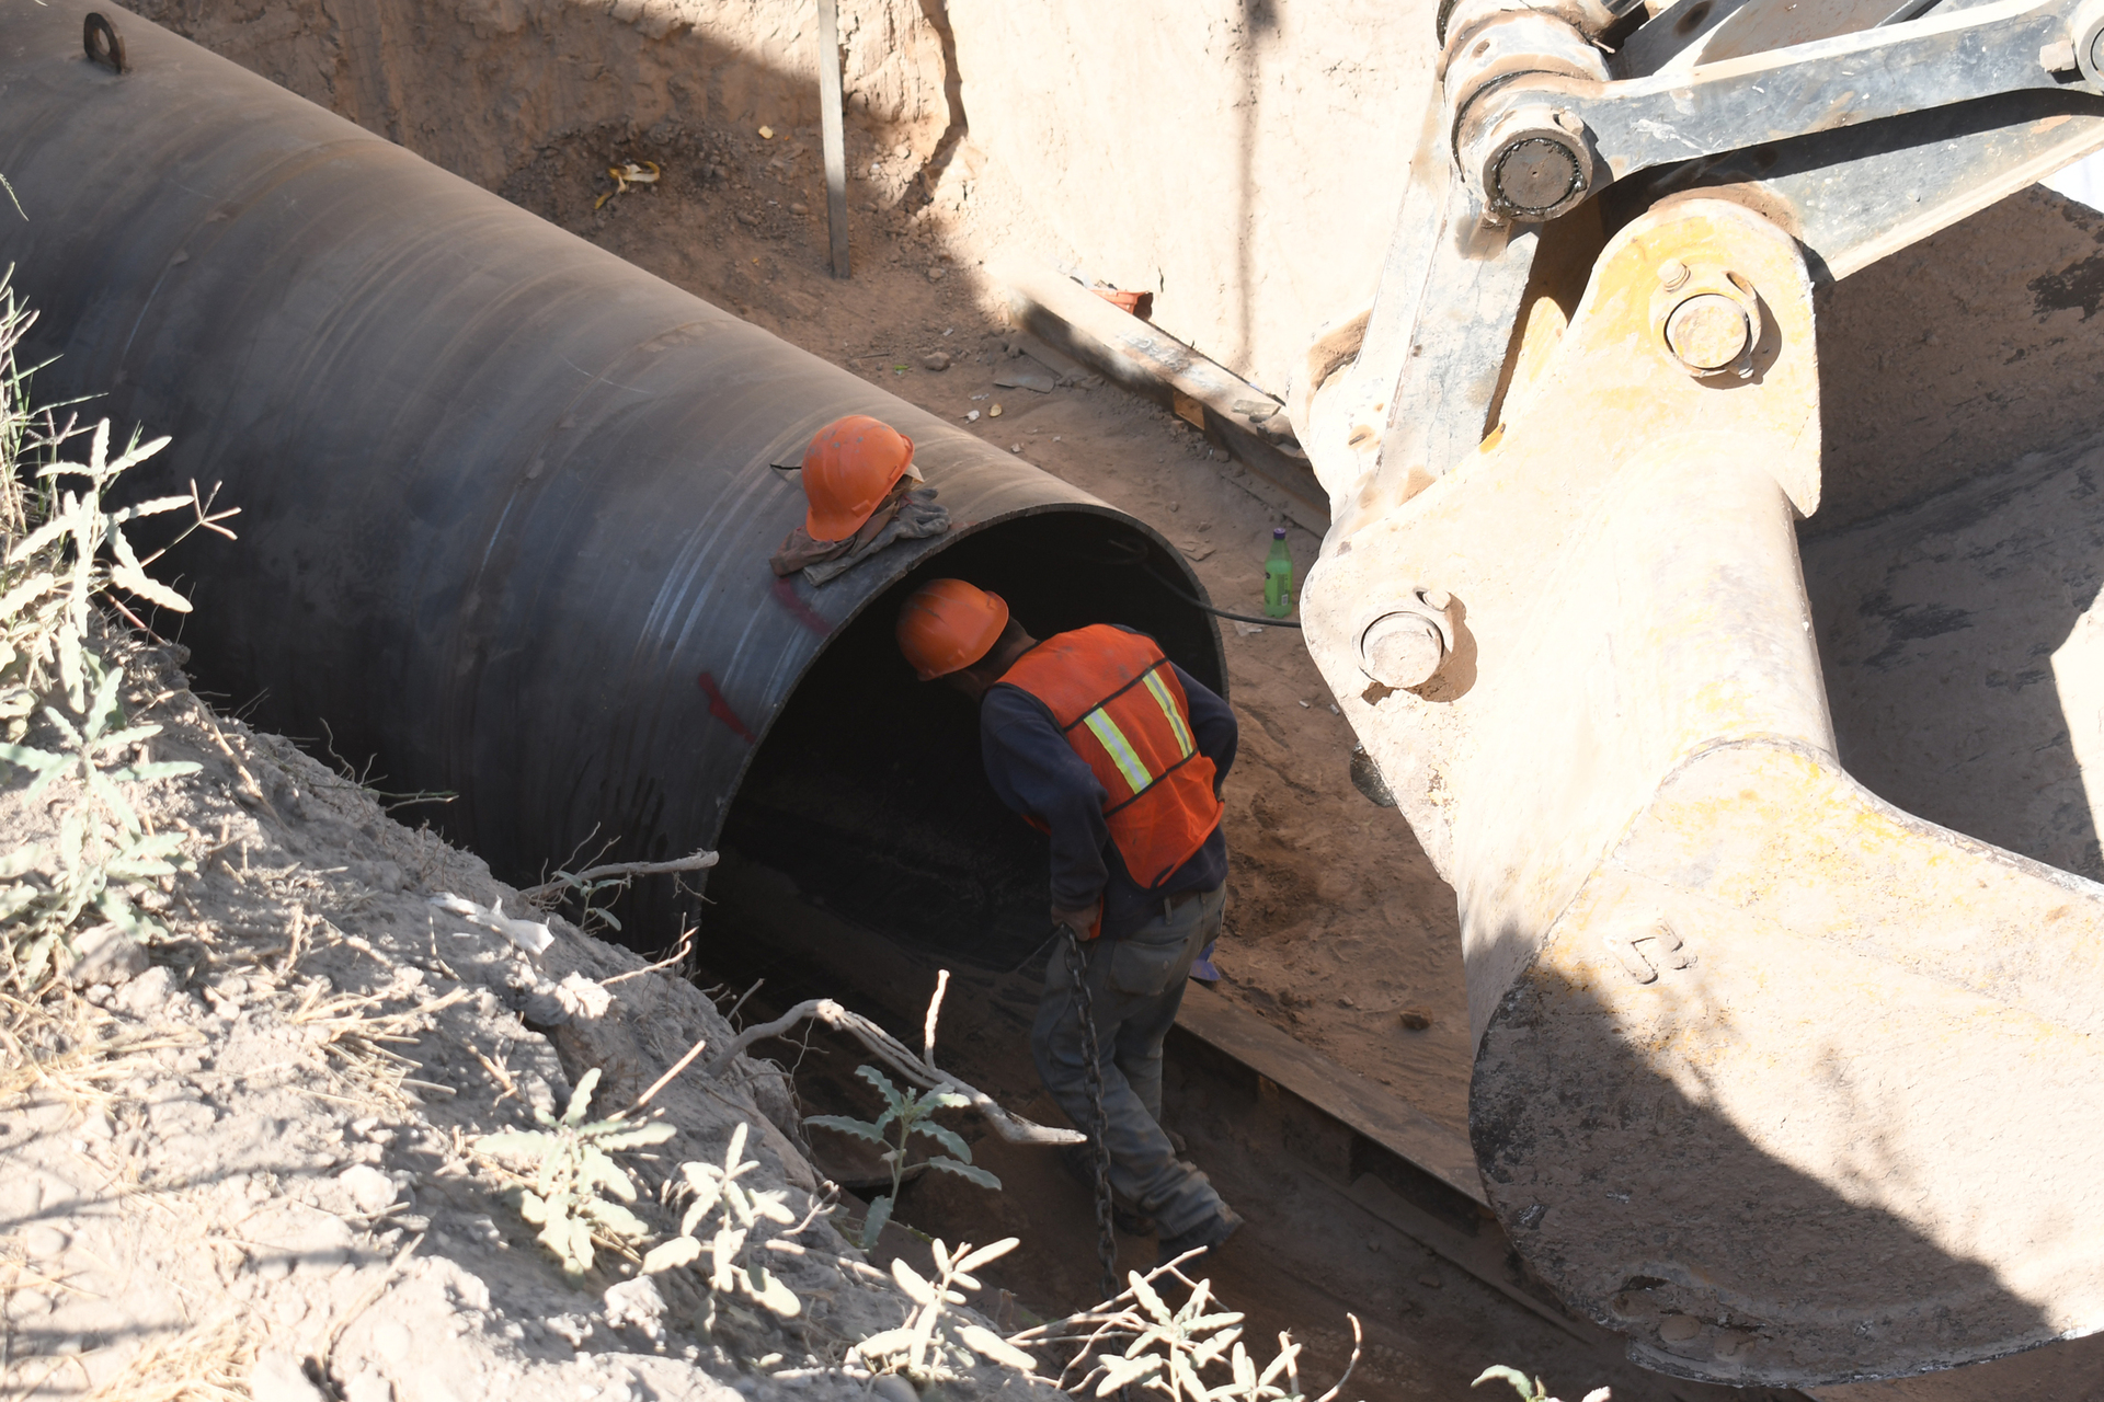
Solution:
<svg viewBox="0 0 2104 1402"><path fill-rule="evenodd" d="M593 830L635 858L722 839L726 872L905 944L1041 937L1037 839L890 616L966 574L1220 685L1216 628L1161 584L1197 593L1176 551L145 19L109 11L130 71L90 63L86 13L0 23L27 214L0 204L0 252L59 357L40 397L170 433L141 494L223 481L242 509L240 542L168 561L202 685L377 755L387 788L457 790L446 832L513 879ZM913 437L957 528L778 589L802 492L770 462L856 412Z"/></svg>

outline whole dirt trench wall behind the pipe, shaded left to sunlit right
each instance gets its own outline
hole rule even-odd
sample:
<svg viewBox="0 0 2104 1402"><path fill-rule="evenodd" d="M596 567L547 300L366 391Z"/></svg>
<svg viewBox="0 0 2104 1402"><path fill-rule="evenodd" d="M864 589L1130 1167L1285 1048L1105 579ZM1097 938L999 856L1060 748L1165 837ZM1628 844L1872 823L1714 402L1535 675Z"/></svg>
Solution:
<svg viewBox="0 0 2104 1402"><path fill-rule="evenodd" d="M810 0L124 4L488 189L553 132L818 120ZM1166 330L1273 393L1372 294L1424 0L842 0L839 25L850 116L917 158L951 124L949 25L962 166L999 166L1020 206L997 238L1155 292Z"/></svg>

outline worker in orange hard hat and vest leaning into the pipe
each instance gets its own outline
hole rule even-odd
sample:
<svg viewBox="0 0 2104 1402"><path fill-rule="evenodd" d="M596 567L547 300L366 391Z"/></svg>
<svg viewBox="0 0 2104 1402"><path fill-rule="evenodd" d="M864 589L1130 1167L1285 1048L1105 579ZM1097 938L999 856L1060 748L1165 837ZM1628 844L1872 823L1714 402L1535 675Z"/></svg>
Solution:
<svg viewBox="0 0 2104 1402"><path fill-rule="evenodd" d="M907 599L898 647L922 681L978 702L987 780L1052 841L1052 923L1079 935L1124 1225L1153 1230L1164 1261L1212 1251L1241 1217L1161 1127L1161 1040L1191 963L1220 933L1235 713L1142 633L1092 624L1037 641L999 595L964 580ZM1058 956L1031 1051L1067 1116L1098 1133L1079 984Z"/></svg>

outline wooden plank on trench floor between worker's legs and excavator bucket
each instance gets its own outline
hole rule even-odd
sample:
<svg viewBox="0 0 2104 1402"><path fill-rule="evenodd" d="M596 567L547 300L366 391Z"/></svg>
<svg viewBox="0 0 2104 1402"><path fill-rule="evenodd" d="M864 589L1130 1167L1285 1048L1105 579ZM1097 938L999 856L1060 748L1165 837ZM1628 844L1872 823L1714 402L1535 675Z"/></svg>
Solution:
<svg viewBox="0 0 2104 1402"><path fill-rule="evenodd" d="M1395 1091L1344 1070L1256 1013L1197 988L1185 994L1176 1026L1391 1154L1408 1158L1448 1188L1490 1207L1469 1137L1431 1118Z"/></svg>

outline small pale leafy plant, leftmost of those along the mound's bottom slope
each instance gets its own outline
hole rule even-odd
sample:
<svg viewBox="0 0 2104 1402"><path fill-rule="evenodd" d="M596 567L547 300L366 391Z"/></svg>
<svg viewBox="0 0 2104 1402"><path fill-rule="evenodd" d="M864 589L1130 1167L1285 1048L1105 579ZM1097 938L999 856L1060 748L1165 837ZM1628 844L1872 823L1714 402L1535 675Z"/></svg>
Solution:
<svg viewBox="0 0 2104 1402"><path fill-rule="evenodd" d="M576 1093L558 1120L534 1110L541 1129L518 1129L476 1139L476 1150L492 1158L532 1164L532 1188L520 1194L520 1217L541 1228L541 1242L572 1276L591 1270L593 1232L640 1242L650 1228L623 1202L635 1200L627 1169L612 1160L616 1150L665 1143L677 1131L665 1120L635 1125L623 1116L585 1120L600 1070L576 1080ZM604 1194L621 1198L610 1202Z"/></svg>

